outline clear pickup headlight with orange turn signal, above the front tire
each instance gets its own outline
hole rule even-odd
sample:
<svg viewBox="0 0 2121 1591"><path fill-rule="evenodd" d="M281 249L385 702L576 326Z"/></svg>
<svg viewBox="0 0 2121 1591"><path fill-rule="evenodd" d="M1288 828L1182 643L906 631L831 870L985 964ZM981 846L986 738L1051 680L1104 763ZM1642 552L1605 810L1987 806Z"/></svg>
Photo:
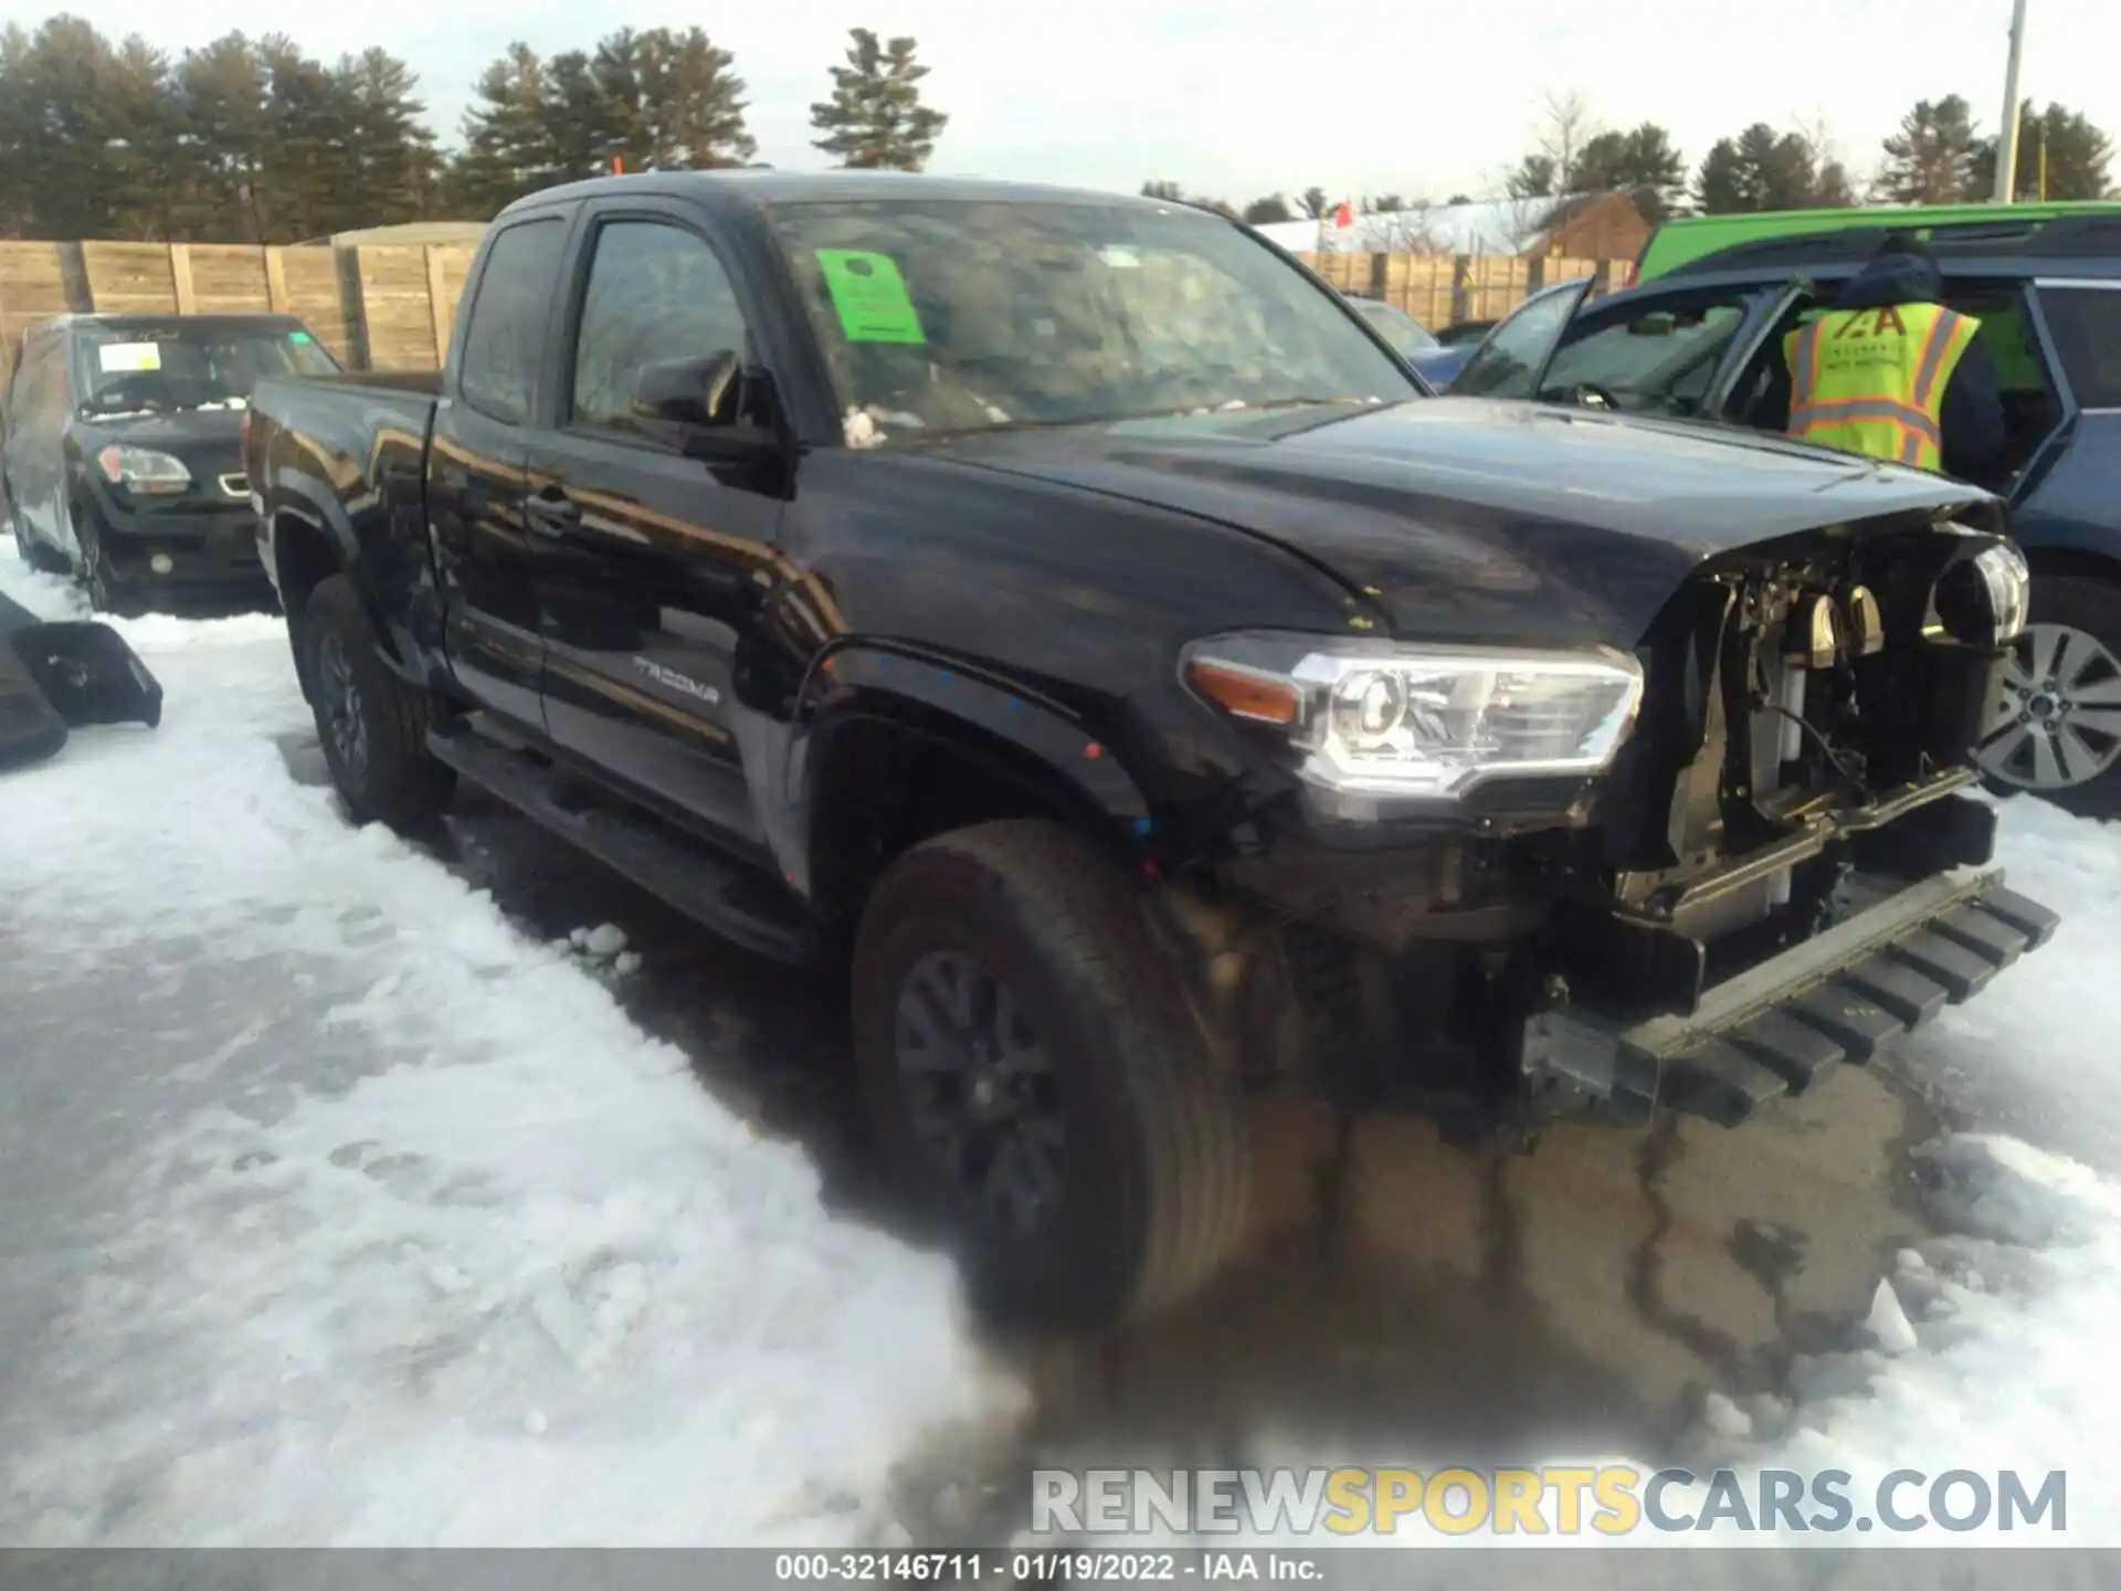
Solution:
<svg viewBox="0 0 2121 1591"><path fill-rule="evenodd" d="M1281 728L1304 779L1383 798L1603 772L1642 704L1642 666L1612 649L1234 634L1194 643L1181 668L1226 713Z"/></svg>

